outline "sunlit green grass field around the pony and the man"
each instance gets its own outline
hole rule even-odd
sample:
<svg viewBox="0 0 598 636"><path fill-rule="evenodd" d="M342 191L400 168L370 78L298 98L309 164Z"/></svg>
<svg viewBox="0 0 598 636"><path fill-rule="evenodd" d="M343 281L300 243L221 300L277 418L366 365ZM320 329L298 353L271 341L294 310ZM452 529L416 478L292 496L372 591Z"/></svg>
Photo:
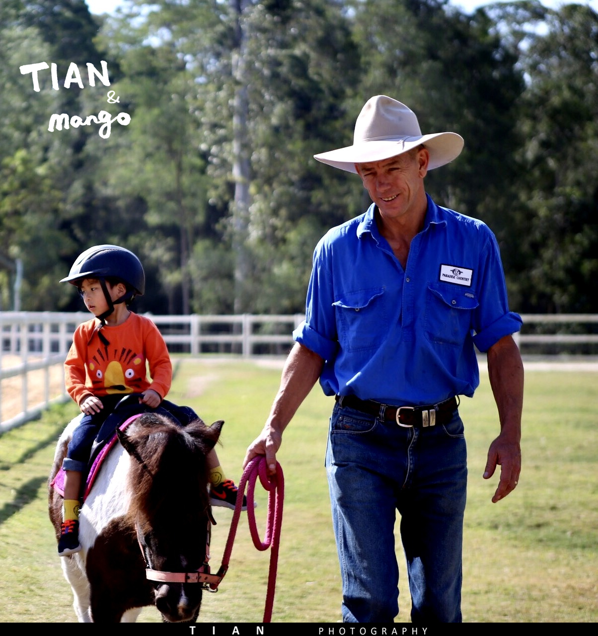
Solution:
<svg viewBox="0 0 598 636"><path fill-rule="evenodd" d="M222 358L175 364L170 399L189 404L209 424L226 420L217 448L238 481L247 445L268 414L280 363ZM496 478L482 479L487 447L498 432L487 376L461 415L470 480L465 517L463 619L479 623L592 623L598 619L598 374L527 371L519 487L491 503ZM340 578L330 527L323 457L330 398L315 387L285 433L278 453L285 500L278 560L275 623L340 619ZM0 621L74 621L71 590L47 516L46 478L55 442L74 406L54 407L35 422L0 437ZM264 533L266 493L256 499ZM215 509L212 568L217 569L232 511ZM442 537L439 537L442 541ZM400 615L409 622L409 591L397 536ZM257 551L241 516L230 569L218 593L207 594L203 623L261 622L269 551ZM145 623L160 616L146 608Z"/></svg>

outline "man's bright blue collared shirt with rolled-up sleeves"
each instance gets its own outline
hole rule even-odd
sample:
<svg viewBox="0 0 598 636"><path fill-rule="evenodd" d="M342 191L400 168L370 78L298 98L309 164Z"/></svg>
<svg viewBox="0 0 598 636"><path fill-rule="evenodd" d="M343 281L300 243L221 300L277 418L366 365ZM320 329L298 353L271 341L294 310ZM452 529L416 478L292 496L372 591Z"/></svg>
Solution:
<svg viewBox="0 0 598 636"><path fill-rule="evenodd" d="M374 211L372 204L318 242L294 340L325 360L326 395L412 406L473 396L473 345L485 352L522 322L508 310L494 234L428 197L404 270Z"/></svg>

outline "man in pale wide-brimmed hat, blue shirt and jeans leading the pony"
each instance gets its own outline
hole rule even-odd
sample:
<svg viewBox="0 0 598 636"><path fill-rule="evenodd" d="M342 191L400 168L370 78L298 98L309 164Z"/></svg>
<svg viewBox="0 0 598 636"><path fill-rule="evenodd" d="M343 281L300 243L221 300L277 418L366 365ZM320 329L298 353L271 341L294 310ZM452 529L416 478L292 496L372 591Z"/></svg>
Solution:
<svg viewBox="0 0 598 636"><path fill-rule="evenodd" d="M276 467L282 432L319 379L334 395L326 467L345 622L398 614L394 526L400 513L412 622L461 621L466 448L459 396L487 352L500 432L484 478L501 466L497 502L517 485L523 366L498 245L487 226L426 194L428 170L456 158L455 133L422 135L415 114L377 95L352 146L315 155L356 172L372 205L332 228L313 256L306 319L264 429L245 464Z"/></svg>

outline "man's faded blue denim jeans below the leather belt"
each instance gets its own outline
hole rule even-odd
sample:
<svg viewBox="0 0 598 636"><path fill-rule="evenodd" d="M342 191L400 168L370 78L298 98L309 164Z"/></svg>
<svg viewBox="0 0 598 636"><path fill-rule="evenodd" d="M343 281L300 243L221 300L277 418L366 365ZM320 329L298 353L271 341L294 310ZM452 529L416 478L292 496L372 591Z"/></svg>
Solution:
<svg viewBox="0 0 598 636"><path fill-rule="evenodd" d="M335 404L326 469L343 621L391 623L398 614L398 510L412 623L461 622L467 459L458 411L449 424L418 429Z"/></svg>

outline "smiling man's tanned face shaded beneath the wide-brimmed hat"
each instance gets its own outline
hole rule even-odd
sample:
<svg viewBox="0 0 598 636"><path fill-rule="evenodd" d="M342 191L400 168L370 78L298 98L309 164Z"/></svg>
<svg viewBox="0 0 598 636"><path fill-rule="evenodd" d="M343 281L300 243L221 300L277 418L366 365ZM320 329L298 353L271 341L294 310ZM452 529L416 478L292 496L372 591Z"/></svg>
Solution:
<svg viewBox="0 0 598 636"><path fill-rule="evenodd" d="M421 148L382 161L355 164L385 221L405 220L409 214L422 211L426 205L423 177L428 172L428 158L428 151Z"/></svg>

